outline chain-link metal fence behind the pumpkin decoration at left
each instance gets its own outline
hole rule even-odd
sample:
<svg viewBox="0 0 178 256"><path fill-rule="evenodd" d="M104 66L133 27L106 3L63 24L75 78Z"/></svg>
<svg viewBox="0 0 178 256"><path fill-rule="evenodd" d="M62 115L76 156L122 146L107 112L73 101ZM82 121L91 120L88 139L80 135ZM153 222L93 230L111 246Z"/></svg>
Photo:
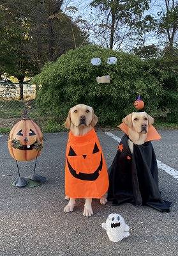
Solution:
<svg viewBox="0 0 178 256"><path fill-rule="evenodd" d="M23 100L20 100L20 85L17 83L0 83L0 133L8 132L21 119L24 108L28 109L29 117L46 132L61 129L61 120L49 109L42 111L36 103L36 86L23 84Z"/></svg>

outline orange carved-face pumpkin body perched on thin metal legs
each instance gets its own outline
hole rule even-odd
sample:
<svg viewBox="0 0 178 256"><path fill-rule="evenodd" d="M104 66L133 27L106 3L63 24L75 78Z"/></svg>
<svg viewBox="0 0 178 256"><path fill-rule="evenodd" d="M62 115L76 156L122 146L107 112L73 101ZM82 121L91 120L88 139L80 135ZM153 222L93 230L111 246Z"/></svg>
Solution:
<svg viewBox="0 0 178 256"><path fill-rule="evenodd" d="M33 120L20 120L10 131L8 148L17 161L29 161L40 156L43 134Z"/></svg>

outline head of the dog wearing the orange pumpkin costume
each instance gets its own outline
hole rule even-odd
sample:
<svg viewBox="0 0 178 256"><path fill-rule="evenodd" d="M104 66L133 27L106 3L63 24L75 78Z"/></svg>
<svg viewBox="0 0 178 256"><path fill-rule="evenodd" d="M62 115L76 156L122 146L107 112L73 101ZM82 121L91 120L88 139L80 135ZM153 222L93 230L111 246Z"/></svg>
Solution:
<svg viewBox="0 0 178 256"><path fill-rule="evenodd" d="M78 104L70 109L65 127L70 129L71 124L75 127L89 126L94 127L98 122L98 117L94 114L93 108L84 104Z"/></svg>

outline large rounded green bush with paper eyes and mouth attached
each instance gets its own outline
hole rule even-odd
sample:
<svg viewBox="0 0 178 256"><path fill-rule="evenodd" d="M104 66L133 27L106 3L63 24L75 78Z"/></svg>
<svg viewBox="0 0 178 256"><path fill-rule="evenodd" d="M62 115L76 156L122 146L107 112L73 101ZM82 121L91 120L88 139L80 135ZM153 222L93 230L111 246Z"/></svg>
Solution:
<svg viewBox="0 0 178 256"><path fill-rule="evenodd" d="M117 57L117 65L108 65L107 58ZM91 58L100 57L100 66L93 66ZM68 51L54 63L47 63L33 78L38 85L37 102L63 120L75 104L93 106L100 125L118 124L131 111L138 94L145 102L145 111L158 112L164 95L153 65L133 54L87 45ZM110 83L98 84L96 77L109 75Z"/></svg>

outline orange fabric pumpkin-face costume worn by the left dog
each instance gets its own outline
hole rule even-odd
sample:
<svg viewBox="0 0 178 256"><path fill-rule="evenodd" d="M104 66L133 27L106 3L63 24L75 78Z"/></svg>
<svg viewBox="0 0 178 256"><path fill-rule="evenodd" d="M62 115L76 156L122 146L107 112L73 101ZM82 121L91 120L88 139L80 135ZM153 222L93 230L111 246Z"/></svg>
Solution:
<svg viewBox="0 0 178 256"><path fill-rule="evenodd" d="M71 198L101 198L108 190L107 164L94 129L83 136L69 133L65 193Z"/></svg>

